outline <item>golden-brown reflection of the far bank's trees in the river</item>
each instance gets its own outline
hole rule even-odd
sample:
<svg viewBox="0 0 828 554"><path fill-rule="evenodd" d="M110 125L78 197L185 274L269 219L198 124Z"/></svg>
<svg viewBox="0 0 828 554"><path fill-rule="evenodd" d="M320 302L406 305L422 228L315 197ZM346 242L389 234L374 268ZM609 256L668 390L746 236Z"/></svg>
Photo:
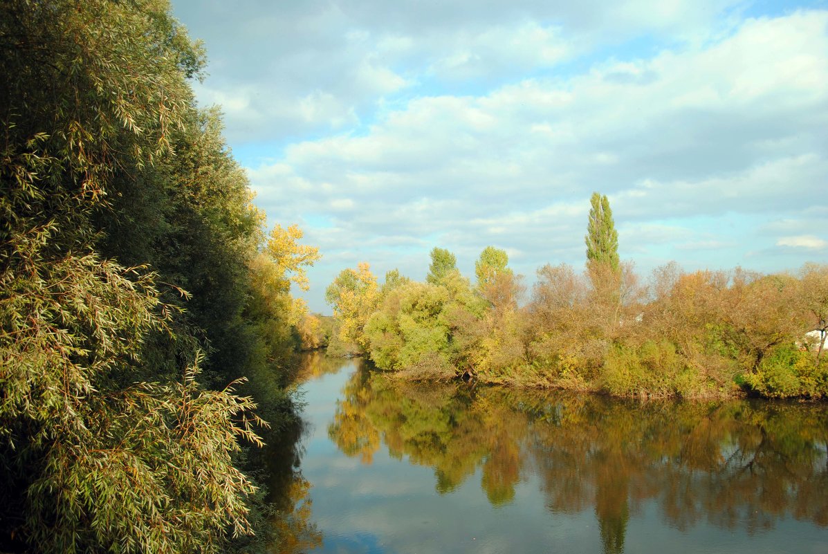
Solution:
<svg viewBox="0 0 828 554"><path fill-rule="evenodd" d="M593 508L604 552L655 501L686 531L700 522L757 532L785 516L828 525L828 409L821 404L624 402L606 397L404 383L358 371L328 433L370 464L384 445L435 472L450 493L481 469L494 506L528 471L546 508Z"/></svg>

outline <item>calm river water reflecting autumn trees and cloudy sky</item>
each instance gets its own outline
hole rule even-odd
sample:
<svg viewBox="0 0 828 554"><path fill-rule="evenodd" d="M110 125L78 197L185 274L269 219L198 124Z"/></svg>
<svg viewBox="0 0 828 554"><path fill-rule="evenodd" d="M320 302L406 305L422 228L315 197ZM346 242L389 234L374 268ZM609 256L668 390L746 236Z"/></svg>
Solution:
<svg viewBox="0 0 828 554"><path fill-rule="evenodd" d="M828 408L398 383L308 359L284 552L828 552ZM290 469L290 468L288 468Z"/></svg>

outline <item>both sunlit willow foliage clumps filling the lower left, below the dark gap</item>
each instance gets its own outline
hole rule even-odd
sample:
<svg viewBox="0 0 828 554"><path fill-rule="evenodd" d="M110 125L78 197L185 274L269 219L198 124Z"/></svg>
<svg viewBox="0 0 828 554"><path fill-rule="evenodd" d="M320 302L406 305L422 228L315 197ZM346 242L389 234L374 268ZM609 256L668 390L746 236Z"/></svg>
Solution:
<svg viewBox="0 0 828 554"><path fill-rule="evenodd" d="M94 254L42 263L47 239L0 273L0 489L25 514L2 531L39 552L212 550L228 526L248 532L254 488L231 452L258 442L253 403L200 390L197 365L181 383L121 384L175 309L152 273Z"/></svg>

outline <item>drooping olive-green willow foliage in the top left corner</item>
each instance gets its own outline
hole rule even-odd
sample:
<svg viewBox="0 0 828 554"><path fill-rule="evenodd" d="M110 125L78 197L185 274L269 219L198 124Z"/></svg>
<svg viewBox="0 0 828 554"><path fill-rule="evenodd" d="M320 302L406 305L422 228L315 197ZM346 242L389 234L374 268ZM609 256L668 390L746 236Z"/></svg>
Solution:
<svg viewBox="0 0 828 554"><path fill-rule="evenodd" d="M185 75L202 55L166 7L3 2L0 68L13 78L0 84L2 220L12 233L42 218L79 238L120 161L142 167L170 151L192 101Z"/></svg>

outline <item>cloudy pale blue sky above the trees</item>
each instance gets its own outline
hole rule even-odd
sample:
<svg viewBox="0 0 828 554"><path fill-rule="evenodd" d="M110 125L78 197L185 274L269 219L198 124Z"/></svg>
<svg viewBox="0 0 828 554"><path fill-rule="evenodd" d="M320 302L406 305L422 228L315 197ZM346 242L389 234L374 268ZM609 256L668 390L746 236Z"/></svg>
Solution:
<svg viewBox="0 0 828 554"><path fill-rule="evenodd" d="M594 191L646 277L828 262L828 1L172 0L270 224L325 288L368 262L532 284L583 267Z"/></svg>

